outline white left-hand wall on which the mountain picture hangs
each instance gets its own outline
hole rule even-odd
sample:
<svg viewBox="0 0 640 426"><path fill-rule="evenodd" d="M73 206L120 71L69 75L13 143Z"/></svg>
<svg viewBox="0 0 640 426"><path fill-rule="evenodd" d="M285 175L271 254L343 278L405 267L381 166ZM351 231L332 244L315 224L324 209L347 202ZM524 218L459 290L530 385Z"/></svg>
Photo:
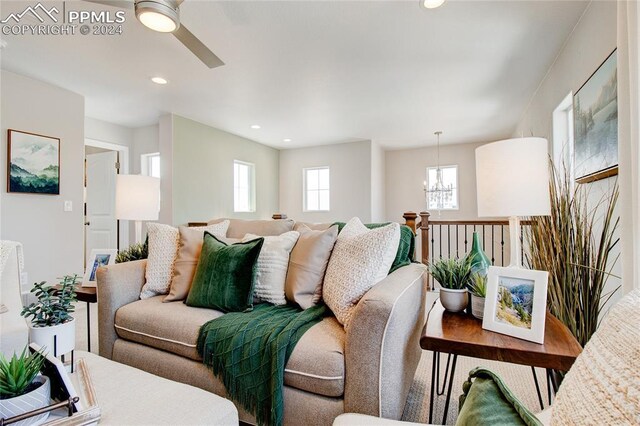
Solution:
<svg viewBox="0 0 640 426"><path fill-rule="evenodd" d="M7 164L7 129L60 138L60 195L9 194L7 175L0 173L0 238L24 245L25 271L31 284L82 274L84 98L5 70L0 85L3 167ZM63 211L65 200L73 203L73 211Z"/></svg>

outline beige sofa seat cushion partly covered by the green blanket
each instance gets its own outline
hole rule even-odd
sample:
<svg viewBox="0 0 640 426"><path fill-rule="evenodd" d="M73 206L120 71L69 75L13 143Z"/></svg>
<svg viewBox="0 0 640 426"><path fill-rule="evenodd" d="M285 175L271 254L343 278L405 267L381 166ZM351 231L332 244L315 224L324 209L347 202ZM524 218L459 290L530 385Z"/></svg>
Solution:
<svg viewBox="0 0 640 426"><path fill-rule="evenodd" d="M162 303L162 298L138 300L118 309L115 318L118 336L202 361L196 350L200 327L223 315L222 312L184 303ZM329 397L341 396L345 336L334 317L324 318L311 327L298 341L285 366L285 385Z"/></svg>

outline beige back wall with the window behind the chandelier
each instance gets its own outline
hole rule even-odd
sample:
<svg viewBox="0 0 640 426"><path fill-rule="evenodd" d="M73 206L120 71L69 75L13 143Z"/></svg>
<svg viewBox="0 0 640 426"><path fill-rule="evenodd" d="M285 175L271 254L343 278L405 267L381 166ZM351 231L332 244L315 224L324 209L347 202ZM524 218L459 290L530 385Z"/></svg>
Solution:
<svg viewBox="0 0 640 426"><path fill-rule="evenodd" d="M440 165L458 165L458 210L443 210L440 220L478 218L475 149L482 144L440 146ZM437 148L386 152L386 220L401 221L404 212L426 209L423 182L427 167L437 166ZM436 212L432 217L436 218Z"/></svg>

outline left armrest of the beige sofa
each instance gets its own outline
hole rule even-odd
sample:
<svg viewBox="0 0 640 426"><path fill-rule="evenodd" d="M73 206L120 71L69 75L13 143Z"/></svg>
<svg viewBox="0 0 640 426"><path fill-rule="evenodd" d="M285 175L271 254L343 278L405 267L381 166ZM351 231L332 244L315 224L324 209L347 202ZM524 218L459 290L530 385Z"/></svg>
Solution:
<svg viewBox="0 0 640 426"><path fill-rule="evenodd" d="M120 307L140 299L146 266L146 260L136 260L98 269L100 356L111 359L113 344L118 338L115 329L116 311Z"/></svg>

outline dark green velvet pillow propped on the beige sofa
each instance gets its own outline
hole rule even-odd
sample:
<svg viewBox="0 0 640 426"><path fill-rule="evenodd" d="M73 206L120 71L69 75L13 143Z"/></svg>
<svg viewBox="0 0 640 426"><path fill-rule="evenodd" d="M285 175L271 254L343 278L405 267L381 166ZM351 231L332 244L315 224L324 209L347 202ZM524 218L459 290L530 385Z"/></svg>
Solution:
<svg viewBox="0 0 640 426"><path fill-rule="evenodd" d="M263 243L264 238L258 238L227 245L205 231L187 306L222 312L252 310L256 264Z"/></svg>

